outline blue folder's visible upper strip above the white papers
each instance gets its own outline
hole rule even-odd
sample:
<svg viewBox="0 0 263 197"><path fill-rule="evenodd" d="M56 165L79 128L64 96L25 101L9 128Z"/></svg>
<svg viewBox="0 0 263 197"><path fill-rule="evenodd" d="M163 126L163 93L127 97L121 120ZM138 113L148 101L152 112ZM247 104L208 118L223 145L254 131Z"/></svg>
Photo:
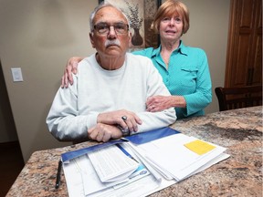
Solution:
<svg viewBox="0 0 263 197"><path fill-rule="evenodd" d="M127 141L131 141L134 144L142 144L142 143L146 143L152 140L157 140L163 137L167 137L170 135L174 135L180 133L177 130L173 130L171 128L165 127L162 129L157 129L157 130L151 130L151 131L147 131L147 132L142 132L142 133L138 133L138 134L134 134L132 136L127 136L125 139L120 139L120 140L110 140L106 143L101 143L101 144L97 144L94 146L90 146L84 149L80 149L80 150L73 150L73 151L69 151L69 152L65 152L61 154L61 160L63 162L65 161L69 161L72 160L74 158L77 158L79 156L82 156L84 154L89 153L90 151L94 151L94 150L100 150L106 147L109 147L111 145L114 144L120 144L120 143L124 143Z"/></svg>

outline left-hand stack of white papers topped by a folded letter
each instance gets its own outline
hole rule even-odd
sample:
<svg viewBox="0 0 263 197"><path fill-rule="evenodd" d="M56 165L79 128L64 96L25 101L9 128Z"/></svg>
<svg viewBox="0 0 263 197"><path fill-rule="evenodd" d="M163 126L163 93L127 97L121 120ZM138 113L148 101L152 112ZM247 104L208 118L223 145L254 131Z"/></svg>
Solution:
<svg viewBox="0 0 263 197"><path fill-rule="evenodd" d="M74 197L143 196L160 185L126 143L88 152L63 167L68 195ZM141 184L146 190L139 190Z"/></svg>

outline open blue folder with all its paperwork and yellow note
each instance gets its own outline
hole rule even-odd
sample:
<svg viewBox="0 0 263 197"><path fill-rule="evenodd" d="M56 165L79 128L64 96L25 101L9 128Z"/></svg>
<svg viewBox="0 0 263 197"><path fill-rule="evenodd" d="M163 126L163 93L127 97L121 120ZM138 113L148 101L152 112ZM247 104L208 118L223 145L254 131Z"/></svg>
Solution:
<svg viewBox="0 0 263 197"><path fill-rule="evenodd" d="M162 190L225 160L225 150L163 128L61 156L69 196L134 197Z"/></svg>

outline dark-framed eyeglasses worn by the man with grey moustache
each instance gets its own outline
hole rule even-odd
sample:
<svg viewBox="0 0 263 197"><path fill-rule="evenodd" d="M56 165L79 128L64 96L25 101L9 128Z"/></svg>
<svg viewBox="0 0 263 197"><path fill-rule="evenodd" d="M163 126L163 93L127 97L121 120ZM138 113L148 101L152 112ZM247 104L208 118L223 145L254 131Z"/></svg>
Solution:
<svg viewBox="0 0 263 197"><path fill-rule="evenodd" d="M116 23L116 24L113 24L111 26L113 26L117 35L127 34L127 32L129 31L129 25L127 25L127 24ZM100 35L108 35L110 32L110 25L106 24L106 23L99 23L99 24L94 26L94 29Z"/></svg>

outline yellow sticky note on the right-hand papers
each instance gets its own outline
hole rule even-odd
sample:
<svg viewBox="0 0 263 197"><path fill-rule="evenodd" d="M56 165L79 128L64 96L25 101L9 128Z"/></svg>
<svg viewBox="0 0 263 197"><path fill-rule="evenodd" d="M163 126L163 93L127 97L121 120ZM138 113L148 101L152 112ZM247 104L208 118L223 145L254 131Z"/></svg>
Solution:
<svg viewBox="0 0 263 197"><path fill-rule="evenodd" d="M203 155L206 152L215 149L216 147L203 141L203 140L194 140L189 143L184 144L186 148L189 150L194 151L195 153L199 155Z"/></svg>

